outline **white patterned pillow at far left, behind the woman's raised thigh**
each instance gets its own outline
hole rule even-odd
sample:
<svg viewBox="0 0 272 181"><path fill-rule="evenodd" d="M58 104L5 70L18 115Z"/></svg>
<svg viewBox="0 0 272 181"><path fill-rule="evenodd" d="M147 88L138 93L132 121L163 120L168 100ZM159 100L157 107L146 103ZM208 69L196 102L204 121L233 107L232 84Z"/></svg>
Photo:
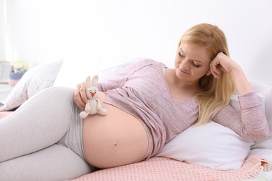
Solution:
<svg viewBox="0 0 272 181"><path fill-rule="evenodd" d="M22 79L18 81L13 91L6 97L6 100L3 102L4 106L0 108L0 111L8 111L20 107L29 97L53 86L60 68L61 61L39 65L28 70L24 73Z"/></svg>

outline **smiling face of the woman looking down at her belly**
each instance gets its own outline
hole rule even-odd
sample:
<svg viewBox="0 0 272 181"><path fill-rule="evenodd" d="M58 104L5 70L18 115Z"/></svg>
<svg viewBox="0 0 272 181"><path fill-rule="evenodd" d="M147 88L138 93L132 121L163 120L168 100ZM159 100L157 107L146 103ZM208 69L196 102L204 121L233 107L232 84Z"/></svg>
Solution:
<svg viewBox="0 0 272 181"><path fill-rule="evenodd" d="M210 68L211 58L204 47L181 43L175 60L176 77L183 81L198 81Z"/></svg>

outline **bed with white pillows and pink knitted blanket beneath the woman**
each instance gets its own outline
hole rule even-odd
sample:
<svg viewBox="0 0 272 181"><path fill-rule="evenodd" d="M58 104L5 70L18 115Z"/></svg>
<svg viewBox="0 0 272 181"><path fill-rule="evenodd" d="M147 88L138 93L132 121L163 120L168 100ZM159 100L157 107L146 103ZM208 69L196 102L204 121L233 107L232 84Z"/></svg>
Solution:
<svg viewBox="0 0 272 181"><path fill-rule="evenodd" d="M87 75L93 74L104 81L138 59L73 52L61 61L31 68L3 100L0 119L45 88L75 88ZM248 141L211 121L186 129L149 160L98 170L73 180L272 180L272 85L256 80L250 80L250 84L266 111L268 138ZM231 104L239 109L235 95Z"/></svg>

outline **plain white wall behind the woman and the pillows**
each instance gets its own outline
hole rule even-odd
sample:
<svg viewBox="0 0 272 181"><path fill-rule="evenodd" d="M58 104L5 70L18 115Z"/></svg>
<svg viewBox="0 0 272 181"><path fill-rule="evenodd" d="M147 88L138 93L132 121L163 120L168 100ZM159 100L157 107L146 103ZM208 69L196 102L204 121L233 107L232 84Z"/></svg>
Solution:
<svg viewBox="0 0 272 181"><path fill-rule="evenodd" d="M5 25L0 53L8 54L0 60L38 65L80 49L144 56L172 67L183 32L208 22L225 31L231 57L248 78L272 83L270 0L0 0L5 3L8 22L0 18L0 28Z"/></svg>

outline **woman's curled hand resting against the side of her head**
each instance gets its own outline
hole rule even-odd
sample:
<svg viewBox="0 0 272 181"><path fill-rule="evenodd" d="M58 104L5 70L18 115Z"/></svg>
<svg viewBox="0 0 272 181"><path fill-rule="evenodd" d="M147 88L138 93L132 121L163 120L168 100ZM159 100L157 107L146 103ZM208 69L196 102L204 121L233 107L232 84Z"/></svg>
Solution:
<svg viewBox="0 0 272 181"><path fill-rule="evenodd" d="M220 76L220 71L232 73L233 70L241 69L240 66L232 61L229 56L222 52L219 52L213 61L210 63L210 71L207 75L213 74L214 77L218 78Z"/></svg>

